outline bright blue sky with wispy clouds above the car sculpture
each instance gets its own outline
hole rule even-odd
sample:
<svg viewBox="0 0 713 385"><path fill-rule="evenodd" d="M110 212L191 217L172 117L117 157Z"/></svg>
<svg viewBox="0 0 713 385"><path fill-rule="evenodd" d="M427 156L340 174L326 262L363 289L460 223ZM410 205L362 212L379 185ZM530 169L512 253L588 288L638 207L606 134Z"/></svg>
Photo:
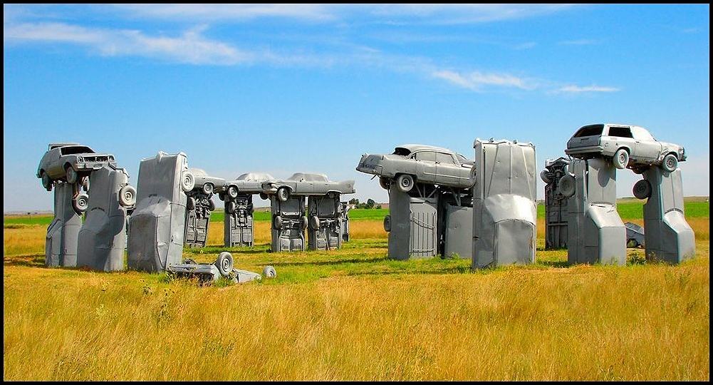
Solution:
<svg viewBox="0 0 713 385"><path fill-rule="evenodd" d="M593 122L684 145L684 193L709 194L709 5L3 11L4 211L51 209L35 173L53 141L115 154L133 184L140 159L183 151L215 176L323 172L387 201L361 154L472 157L494 137L543 164Z"/></svg>

